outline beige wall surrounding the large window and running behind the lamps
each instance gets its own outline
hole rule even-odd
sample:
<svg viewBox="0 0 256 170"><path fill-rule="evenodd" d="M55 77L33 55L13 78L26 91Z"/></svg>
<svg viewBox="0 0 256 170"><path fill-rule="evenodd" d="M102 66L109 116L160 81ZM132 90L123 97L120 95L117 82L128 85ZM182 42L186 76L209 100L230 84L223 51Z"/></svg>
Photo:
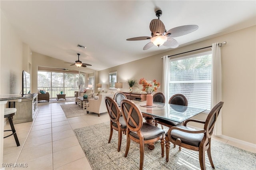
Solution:
<svg viewBox="0 0 256 170"><path fill-rule="evenodd" d="M99 83L108 88L108 73L118 72L118 81L128 90L127 79L156 79L162 83L162 59L227 41L222 53L222 132L223 135L256 144L256 26L194 43L178 49L99 71ZM159 89L162 91L162 89ZM205 119L206 114L198 115Z"/></svg>

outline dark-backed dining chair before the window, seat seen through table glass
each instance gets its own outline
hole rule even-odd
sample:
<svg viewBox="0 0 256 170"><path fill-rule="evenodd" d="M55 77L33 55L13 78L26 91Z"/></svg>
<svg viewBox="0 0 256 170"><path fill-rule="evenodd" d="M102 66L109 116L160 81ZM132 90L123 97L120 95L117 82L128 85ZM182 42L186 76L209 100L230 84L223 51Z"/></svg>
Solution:
<svg viewBox="0 0 256 170"><path fill-rule="evenodd" d="M186 97L182 94L175 94L169 99L169 104L174 104L174 105L182 105L182 106L188 106L188 100ZM173 127L173 126L178 126L182 125L182 123L170 121L167 119L163 119L160 117L155 118L155 124L158 126L158 123L161 125L162 129L164 129L163 125L166 127Z"/></svg>

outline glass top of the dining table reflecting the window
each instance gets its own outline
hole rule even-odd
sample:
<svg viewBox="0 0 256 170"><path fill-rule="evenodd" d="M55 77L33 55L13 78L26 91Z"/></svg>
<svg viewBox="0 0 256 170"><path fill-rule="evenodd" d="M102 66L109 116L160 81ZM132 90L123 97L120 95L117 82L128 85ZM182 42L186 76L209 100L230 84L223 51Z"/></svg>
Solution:
<svg viewBox="0 0 256 170"><path fill-rule="evenodd" d="M153 106L148 107L146 106L146 101L133 100L133 102L138 105L144 115L161 117L178 123L186 121L187 119L206 111L206 109L202 108L168 103L153 102Z"/></svg>

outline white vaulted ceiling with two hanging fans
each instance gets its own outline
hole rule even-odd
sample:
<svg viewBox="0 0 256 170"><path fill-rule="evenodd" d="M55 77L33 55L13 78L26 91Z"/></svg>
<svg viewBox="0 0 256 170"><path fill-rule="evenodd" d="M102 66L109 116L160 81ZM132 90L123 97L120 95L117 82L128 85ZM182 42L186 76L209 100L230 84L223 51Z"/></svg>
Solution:
<svg viewBox="0 0 256 170"><path fill-rule="evenodd" d="M78 59L102 70L170 50L150 40L149 24L160 20L166 30L195 24L195 32L175 38L180 46L256 24L256 1L4 1L0 8L23 42L32 51L66 62ZM86 49L77 47L77 44ZM65 65L65 64L64 64ZM68 65L68 64L66 64ZM75 67L75 66L74 66Z"/></svg>

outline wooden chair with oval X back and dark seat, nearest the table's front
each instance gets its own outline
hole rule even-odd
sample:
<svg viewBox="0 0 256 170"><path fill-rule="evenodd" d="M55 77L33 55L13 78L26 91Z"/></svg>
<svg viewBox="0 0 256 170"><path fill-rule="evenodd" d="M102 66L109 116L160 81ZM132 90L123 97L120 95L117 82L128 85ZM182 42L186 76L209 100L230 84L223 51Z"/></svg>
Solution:
<svg viewBox="0 0 256 170"><path fill-rule="evenodd" d="M145 144L161 140L162 157L164 157L164 130L144 123L142 113L133 101L123 99L121 101L121 110L127 125L127 143L124 157L128 154L131 139L140 144L140 170L143 168Z"/></svg>

